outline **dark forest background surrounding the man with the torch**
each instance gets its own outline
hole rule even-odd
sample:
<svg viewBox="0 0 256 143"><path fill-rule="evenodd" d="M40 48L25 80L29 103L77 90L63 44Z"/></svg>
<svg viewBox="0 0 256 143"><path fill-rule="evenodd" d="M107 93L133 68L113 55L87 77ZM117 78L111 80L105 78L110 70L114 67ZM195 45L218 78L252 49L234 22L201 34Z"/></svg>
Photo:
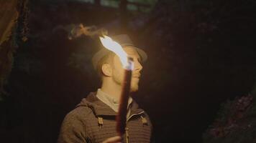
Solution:
<svg viewBox="0 0 256 143"><path fill-rule="evenodd" d="M19 4L17 24L0 49L6 53L12 47L7 56L1 54L1 65L9 58L9 69L1 79L0 142L56 142L65 114L99 88L91 65L99 40L68 39L78 24L129 34L147 52L134 99L151 117L155 142L228 142L232 132L204 139L203 134L216 117L225 117L217 114L221 103L255 95L254 0ZM252 140L255 128L250 124Z"/></svg>

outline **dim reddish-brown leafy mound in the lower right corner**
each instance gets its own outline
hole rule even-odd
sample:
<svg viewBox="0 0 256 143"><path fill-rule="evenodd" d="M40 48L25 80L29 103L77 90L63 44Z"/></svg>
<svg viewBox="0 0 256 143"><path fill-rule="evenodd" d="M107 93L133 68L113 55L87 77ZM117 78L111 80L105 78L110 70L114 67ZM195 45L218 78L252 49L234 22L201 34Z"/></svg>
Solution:
<svg viewBox="0 0 256 143"><path fill-rule="evenodd" d="M204 142L255 142L255 97L248 94L223 104L216 121L204 134Z"/></svg>

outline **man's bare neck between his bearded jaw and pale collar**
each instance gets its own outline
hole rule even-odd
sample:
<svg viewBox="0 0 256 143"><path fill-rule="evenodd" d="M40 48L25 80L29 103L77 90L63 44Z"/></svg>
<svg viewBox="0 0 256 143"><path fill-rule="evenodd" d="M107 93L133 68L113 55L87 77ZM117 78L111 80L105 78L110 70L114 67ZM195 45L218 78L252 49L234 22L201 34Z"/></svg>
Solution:
<svg viewBox="0 0 256 143"><path fill-rule="evenodd" d="M120 84L116 84L116 82L109 78L104 78L101 84L101 91L109 94L109 96L114 99L119 100L121 97L122 86Z"/></svg>

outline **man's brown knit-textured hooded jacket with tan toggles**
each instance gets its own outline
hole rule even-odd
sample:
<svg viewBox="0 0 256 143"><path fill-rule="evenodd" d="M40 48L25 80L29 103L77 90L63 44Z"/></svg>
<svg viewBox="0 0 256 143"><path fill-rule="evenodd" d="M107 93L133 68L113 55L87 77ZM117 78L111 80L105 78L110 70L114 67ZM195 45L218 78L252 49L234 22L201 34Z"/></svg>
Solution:
<svg viewBox="0 0 256 143"><path fill-rule="evenodd" d="M132 101L123 142L150 142L152 124L146 112ZM58 143L103 142L117 136L116 112L91 93L65 116Z"/></svg>

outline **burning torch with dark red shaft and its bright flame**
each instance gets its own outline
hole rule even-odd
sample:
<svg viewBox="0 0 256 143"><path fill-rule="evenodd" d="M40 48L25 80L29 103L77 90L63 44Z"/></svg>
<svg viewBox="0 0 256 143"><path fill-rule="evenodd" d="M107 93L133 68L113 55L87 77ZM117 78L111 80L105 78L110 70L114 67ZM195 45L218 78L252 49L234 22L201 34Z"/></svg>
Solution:
<svg viewBox="0 0 256 143"><path fill-rule="evenodd" d="M132 80L132 70L134 69L134 62L131 57L122 49L122 46L116 41L113 41L109 36L100 36L101 43L106 49L113 51L117 56L119 56L122 66L124 68L124 82L122 84L122 92L119 102L119 111L116 116L116 131L119 136L125 132L126 122L127 122L127 104L129 99L129 91Z"/></svg>

